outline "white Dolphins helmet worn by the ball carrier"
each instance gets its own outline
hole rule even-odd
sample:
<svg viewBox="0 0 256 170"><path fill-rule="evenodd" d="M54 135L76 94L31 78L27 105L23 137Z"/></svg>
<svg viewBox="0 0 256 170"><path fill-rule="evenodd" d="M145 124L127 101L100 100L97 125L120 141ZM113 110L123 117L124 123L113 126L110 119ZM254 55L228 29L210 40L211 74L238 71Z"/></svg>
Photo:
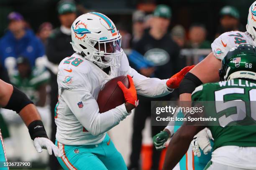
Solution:
<svg viewBox="0 0 256 170"><path fill-rule="evenodd" d="M99 67L118 66L123 55L121 35L101 13L80 15L71 26L72 47Z"/></svg>

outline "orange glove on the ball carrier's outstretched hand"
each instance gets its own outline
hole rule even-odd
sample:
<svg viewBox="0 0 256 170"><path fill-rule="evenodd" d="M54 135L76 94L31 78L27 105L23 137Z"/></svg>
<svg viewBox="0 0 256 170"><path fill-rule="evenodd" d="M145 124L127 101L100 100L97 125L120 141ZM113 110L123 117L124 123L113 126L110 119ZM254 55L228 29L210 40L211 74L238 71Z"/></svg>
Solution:
<svg viewBox="0 0 256 170"><path fill-rule="evenodd" d="M184 67L182 70L180 70L180 72L176 73L171 78L169 78L169 80L167 80L166 82L167 87L170 89L178 88L179 83L183 79L184 75L186 75L187 72L189 72L189 70L191 70L194 66L195 65Z"/></svg>

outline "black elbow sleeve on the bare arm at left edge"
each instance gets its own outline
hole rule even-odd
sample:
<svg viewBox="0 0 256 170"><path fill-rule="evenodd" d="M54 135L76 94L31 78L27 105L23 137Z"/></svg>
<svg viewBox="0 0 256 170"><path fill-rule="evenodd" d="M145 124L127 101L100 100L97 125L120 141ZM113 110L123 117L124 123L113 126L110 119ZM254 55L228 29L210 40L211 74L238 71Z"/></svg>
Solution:
<svg viewBox="0 0 256 170"><path fill-rule="evenodd" d="M22 110L23 107L28 104L33 104L33 102L29 100L29 98L22 91L13 86L13 94L11 95L8 104L3 108L19 113L20 110Z"/></svg>

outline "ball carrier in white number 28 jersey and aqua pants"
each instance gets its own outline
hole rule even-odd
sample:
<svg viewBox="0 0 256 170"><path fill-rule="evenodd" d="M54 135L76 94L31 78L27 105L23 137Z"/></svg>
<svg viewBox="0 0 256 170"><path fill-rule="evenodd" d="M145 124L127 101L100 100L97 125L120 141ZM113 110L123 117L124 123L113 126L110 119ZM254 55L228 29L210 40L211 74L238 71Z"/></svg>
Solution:
<svg viewBox="0 0 256 170"><path fill-rule="evenodd" d="M79 16L71 31L76 53L60 62L57 77L56 145L63 154L59 163L65 170L125 170L123 157L106 132L138 105L136 91L148 97L167 95L193 66L166 80L140 75L120 48L121 35L114 23L101 13ZM130 82L129 89L118 82L126 102L99 113L96 100L100 89L120 75L127 75Z"/></svg>

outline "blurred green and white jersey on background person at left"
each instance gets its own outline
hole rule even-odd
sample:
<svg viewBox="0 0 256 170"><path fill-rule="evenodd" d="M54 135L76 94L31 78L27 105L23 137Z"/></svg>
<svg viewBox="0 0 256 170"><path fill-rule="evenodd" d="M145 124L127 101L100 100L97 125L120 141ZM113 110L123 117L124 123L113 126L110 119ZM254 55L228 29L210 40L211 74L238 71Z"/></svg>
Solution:
<svg viewBox="0 0 256 170"><path fill-rule="evenodd" d="M45 69L33 68L31 75L28 78L20 77L18 71L13 72L10 75L10 82L15 85L18 89L24 92L30 100L34 103L38 102L39 87L50 80L50 73Z"/></svg>

